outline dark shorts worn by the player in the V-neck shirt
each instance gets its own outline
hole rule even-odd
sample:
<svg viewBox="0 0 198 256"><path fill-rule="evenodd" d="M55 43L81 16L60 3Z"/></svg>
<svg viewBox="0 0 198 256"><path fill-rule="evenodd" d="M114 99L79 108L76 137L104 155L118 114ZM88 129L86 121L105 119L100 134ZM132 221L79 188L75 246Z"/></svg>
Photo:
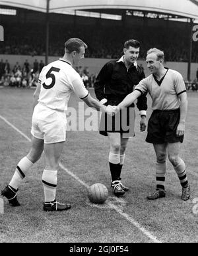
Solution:
<svg viewBox="0 0 198 256"><path fill-rule="evenodd" d="M154 110L148 122L146 141L152 144L183 142L183 135L176 136L180 122L180 109Z"/></svg>

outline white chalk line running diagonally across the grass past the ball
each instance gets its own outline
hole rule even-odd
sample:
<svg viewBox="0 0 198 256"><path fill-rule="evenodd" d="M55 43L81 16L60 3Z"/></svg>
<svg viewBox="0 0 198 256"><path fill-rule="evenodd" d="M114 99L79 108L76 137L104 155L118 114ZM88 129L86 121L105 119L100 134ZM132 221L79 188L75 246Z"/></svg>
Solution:
<svg viewBox="0 0 198 256"><path fill-rule="evenodd" d="M5 117L3 117L2 115L0 115L0 118L5 121L5 123L7 123L9 126L11 126L13 129L15 129L15 131L17 131L18 133L20 133L20 135L22 135L22 137L24 137L27 141L31 141L31 139L29 137L27 137L24 133L22 133L22 131L20 131L18 128L15 127L15 125L13 125L12 123L10 123L9 121L7 121L7 119L5 119ZM86 184L85 182L83 182L77 175L75 175L73 172L70 172L67 168L65 168L65 166L63 166L63 164L59 164L59 166L65 170L65 172L67 172L67 174L69 174L70 176L72 176L73 178L75 178L75 180L77 180L77 182L81 183L82 186L84 186L85 188L89 188L90 186L88 186L88 184ZM114 204L107 202L108 206L112 209L114 209L118 214L120 214L121 216L123 216L123 218L125 218L128 222L130 222L131 224L133 224L135 227L137 227L137 229L139 229L140 231L142 231L142 233L144 233L147 237L149 237L150 240L152 240L154 243L162 243L162 241L156 239L156 237L154 237L154 235L152 235L149 231L147 231L147 229L145 229L145 227L143 227L142 225L140 225L138 222L136 222L135 220L133 220L133 218L131 218L128 214L125 214L122 210L120 210L117 206L115 206Z"/></svg>

